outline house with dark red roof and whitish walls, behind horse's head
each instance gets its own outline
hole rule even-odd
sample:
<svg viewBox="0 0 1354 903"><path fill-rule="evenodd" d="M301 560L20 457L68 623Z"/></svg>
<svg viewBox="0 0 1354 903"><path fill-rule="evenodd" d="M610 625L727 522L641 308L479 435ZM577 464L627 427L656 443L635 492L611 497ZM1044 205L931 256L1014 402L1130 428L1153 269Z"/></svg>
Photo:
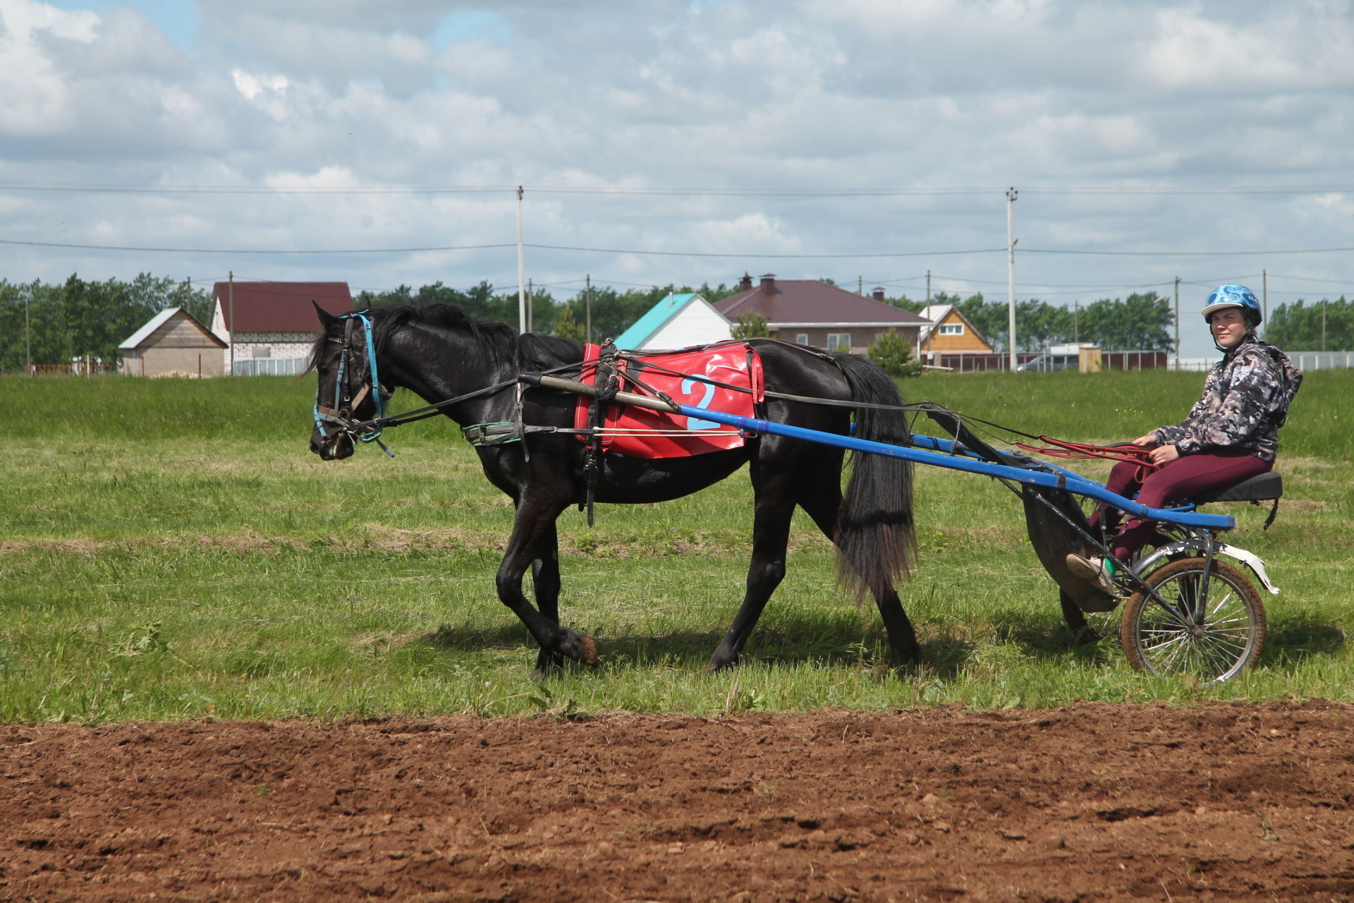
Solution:
<svg viewBox="0 0 1354 903"><path fill-rule="evenodd" d="M230 344L226 372L292 375L306 368L320 334L315 302L332 314L352 310L345 282L218 282L211 330Z"/></svg>

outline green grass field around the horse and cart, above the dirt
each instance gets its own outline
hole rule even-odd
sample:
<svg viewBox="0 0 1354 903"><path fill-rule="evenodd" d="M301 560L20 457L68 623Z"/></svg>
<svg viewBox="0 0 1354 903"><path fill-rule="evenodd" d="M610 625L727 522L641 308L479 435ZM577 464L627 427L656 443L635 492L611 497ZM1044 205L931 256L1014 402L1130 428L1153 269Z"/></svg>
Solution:
<svg viewBox="0 0 1354 903"><path fill-rule="evenodd" d="M1201 383L1016 374L903 390L1108 441L1178 420ZM1274 527L1261 531L1267 509L1225 509L1284 592L1265 600L1262 666L1223 686L1144 678L1110 642L1076 647L1018 501L930 467L902 588L925 667L883 666L877 616L838 590L827 543L799 519L743 667L703 674L743 583L738 474L663 505L598 506L593 529L562 517L563 620L597 639L601 665L532 682L533 648L493 593L512 506L454 425L391 431L395 460L367 447L326 464L306 445L313 397L313 382L271 378L0 378L0 720L1354 699L1354 371L1308 375Z"/></svg>

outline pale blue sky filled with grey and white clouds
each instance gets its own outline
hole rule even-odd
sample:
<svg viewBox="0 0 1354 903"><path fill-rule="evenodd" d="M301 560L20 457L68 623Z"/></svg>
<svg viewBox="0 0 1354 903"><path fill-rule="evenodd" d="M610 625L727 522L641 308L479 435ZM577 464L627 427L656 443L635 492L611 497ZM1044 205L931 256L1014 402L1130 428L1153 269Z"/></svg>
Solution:
<svg viewBox="0 0 1354 903"><path fill-rule="evenodd" d="M516 291L519 187L556 299L1179 279L1212 355L1220 283L1354 295L1354 8L0 0L0 279Z"/></svg>

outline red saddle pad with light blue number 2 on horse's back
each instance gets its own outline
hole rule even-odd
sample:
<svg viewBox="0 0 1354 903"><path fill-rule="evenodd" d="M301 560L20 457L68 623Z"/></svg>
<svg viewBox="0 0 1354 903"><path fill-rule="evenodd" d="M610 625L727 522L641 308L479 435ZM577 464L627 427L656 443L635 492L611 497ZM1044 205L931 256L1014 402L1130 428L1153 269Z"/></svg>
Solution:
<svg viewBox="0 0 1354 903"><path fill-rule="evenodd" d="M581 382L594 386L600 348L585 345ZM700 348L681 348L657 355L616 357L620 390L636 395L663 393L678 405L708 408L726 414L753 416L753 405L765 398L761 357L746 343L728 341ZM724 386L738 386L724 389ZM574 426L588 426L592 398L578 397ZM603 425L603 451L631 458L686 458L741 448L743 435L700 417L666 414L647 408L611 402ZM580 436L581 440L586 437Z"/></svg>

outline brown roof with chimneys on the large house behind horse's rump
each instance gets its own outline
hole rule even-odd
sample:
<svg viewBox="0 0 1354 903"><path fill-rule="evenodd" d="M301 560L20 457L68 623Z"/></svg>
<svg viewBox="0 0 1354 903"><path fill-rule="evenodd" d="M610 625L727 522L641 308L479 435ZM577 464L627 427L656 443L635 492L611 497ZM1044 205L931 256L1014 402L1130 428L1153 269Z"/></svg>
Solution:
<svg viewBox="0 0 1354 903"><path fill-rule="evenodd" d="M910 310L829 286L816 279L762 276L761 284L745 288L715 305L730 322L757 313L772 328L785 326L925 326Z"/></svg>

